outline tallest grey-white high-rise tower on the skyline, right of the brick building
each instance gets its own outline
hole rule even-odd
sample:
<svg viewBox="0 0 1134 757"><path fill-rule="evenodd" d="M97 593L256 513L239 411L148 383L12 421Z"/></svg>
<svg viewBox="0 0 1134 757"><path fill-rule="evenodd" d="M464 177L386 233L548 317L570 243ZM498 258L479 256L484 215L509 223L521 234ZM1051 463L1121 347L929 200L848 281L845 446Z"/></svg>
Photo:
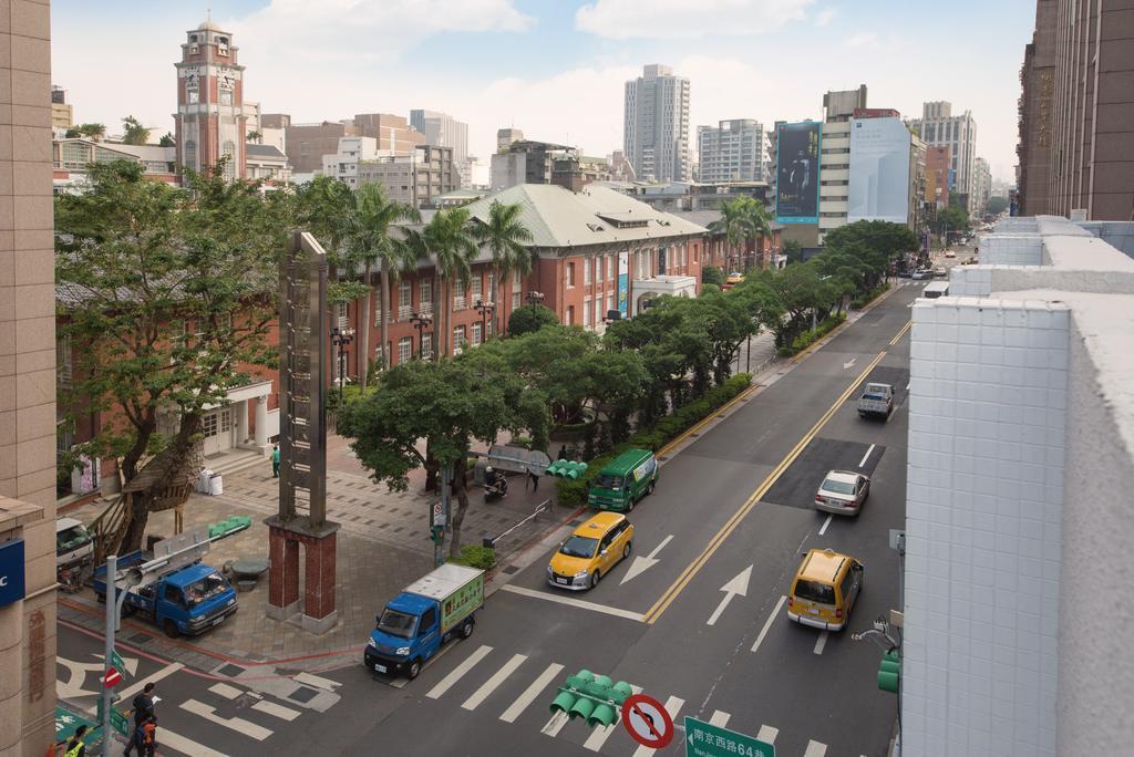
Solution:
<svg viewBox="0 0 1134 757"><path fill-rule="evenodd" d="M634 172L645 181L687 181L689 80L669 66L651 63L626 83L623 145Z"/></svg>

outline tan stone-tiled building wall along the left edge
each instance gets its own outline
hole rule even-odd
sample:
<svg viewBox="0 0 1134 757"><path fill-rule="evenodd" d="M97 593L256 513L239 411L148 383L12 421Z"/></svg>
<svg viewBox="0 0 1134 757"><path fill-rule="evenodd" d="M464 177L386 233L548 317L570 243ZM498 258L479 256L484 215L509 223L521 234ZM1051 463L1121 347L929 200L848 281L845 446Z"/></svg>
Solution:
<svg viewBox="0 0 1134 757"><path fill-rule="evenodd" d="M56 329L51 43L46 1L0 2L0 497L41 507L22 526L31 599L0 611L0 752L42 755L54 729ZM7 529L5 529L7 530ZM12 628L19 624L19 631ZM15 681L16 671L22 678ZM5 707L19 692L15 717ZM6 751L10 749L12 751Z"/></svg>

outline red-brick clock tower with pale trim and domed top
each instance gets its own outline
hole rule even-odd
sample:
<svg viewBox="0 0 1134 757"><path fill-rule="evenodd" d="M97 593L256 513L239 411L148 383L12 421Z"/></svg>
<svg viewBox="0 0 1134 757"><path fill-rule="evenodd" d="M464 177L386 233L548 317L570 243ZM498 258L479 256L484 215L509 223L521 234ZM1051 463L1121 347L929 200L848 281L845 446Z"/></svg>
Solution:
<svg viewBox="0 0 1134 757"><path fill-rule="evenodd" d="M212 20L186 32L177 68L177 161L204 171L228 158L225 177L243 179L245 169L244 66L237 65L232 35Z"/></svg>

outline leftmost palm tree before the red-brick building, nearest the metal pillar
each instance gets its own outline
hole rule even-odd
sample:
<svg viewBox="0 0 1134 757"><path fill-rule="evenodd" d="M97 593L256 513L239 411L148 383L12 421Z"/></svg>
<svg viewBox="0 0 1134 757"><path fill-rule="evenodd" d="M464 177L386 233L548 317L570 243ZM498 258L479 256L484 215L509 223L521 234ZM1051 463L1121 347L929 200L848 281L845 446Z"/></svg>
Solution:
<svg viewBox="0 0 1134 757"><path fill-rule="evenodd" d="M355 193L353 213L347 219L352 267L362 277L362 314L358 324L358 383L366 389L370 360L370 291L371 271L381 270L381 296L378 306L382 317L382 363L389 365L387 343L390 339L390 279L412 270L417 258L414 250L390 236L390 226L398 221L421 221L421 214L409 205L391 202L380 184L364 184Z"/></svg>

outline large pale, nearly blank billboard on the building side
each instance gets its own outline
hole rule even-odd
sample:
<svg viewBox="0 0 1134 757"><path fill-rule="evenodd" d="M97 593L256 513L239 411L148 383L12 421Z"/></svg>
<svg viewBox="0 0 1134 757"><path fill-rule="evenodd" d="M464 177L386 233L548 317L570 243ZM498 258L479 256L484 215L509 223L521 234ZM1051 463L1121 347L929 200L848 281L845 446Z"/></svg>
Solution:
<svg viewBox="0 0 1134 757"><path fill-rule="evenodd" d="M847 222L909 220L909 129L898 118L850 120Z"/></svg>

